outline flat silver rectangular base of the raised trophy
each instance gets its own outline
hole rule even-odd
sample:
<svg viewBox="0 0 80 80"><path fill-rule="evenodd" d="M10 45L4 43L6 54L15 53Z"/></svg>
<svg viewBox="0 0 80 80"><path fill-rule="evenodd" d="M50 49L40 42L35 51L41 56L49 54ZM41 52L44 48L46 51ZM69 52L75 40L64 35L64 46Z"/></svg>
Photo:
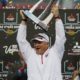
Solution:
<svg viewBox="0 0 80 80"><path fill-rule="evenodd" d="M37 25L39 25L43 30L47 31L48 26L44 24L39 18L37 18L35 15L33 15L28 10L24 11L24 15L30 18L33 22L35 22Z"/></svg>

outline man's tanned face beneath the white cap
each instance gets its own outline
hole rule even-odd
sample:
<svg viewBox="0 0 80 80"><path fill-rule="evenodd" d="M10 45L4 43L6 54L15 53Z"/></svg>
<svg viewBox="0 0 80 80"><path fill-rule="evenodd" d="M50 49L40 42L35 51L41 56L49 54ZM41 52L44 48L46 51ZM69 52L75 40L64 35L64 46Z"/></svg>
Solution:
<svg viewBox="0 0 80 80"><path fill-rule="evenodd" d="M43 55L44 52L48 49L48 43L47 42L41 42L35 40L33 43L34 49L36 50L36 53L39 55Z"/></svg>

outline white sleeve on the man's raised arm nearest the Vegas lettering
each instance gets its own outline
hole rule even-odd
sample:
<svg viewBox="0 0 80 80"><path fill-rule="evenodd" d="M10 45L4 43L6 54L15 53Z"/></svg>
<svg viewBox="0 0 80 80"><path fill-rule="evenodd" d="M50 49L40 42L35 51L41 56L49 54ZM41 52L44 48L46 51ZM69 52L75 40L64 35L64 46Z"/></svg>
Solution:
<svg viewBox="0 0 80 80"><path fill-rule="evenodd" d="M26 29L27 26L25 24L20 24L17 33L17 42L24 60L27 60L32 52L32 47L30 43L26 40Z"/></svg>

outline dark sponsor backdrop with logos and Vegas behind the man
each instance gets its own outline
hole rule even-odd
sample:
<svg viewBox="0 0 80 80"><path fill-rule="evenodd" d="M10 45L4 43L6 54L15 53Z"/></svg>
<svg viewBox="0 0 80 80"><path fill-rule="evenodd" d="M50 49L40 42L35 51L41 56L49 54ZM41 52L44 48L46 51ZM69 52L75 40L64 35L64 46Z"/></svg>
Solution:
<svg viewBox="0 0 80 80"><path fill-rule="evenodd" d="M42 10L36 10L34 14L39 15ZM80 10L60 10L60 15L64 23L67 41L62 60L62 74L64 80L70 80L72 72L80 68ZM0 11L0 80L6 80L7 76L13 74L19 67L20 58L18 56L18 45L16 42L17 29L21 17L19 10L1 10ZM49 24L47 34L50 36L50 45L54 44L55 30L54 19ZM28 40L37 32L43 32L38 25L28 20ZM54 54L53 54L54 55ZM9 71L8 64L12 68Z"/></svg>

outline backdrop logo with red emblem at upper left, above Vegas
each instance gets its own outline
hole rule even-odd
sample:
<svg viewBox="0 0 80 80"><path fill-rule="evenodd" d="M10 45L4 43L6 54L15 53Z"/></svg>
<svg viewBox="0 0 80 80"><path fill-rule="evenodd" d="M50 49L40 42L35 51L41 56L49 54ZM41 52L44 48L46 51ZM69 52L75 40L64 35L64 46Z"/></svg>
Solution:
<svg viewBox="0 0 80 80"><path fill-rule="evenodd" d="M0 24L0 30L8 35L17 32L18 28L18 12L15 10L5 10L2 14L3 23Z"/></svg>

